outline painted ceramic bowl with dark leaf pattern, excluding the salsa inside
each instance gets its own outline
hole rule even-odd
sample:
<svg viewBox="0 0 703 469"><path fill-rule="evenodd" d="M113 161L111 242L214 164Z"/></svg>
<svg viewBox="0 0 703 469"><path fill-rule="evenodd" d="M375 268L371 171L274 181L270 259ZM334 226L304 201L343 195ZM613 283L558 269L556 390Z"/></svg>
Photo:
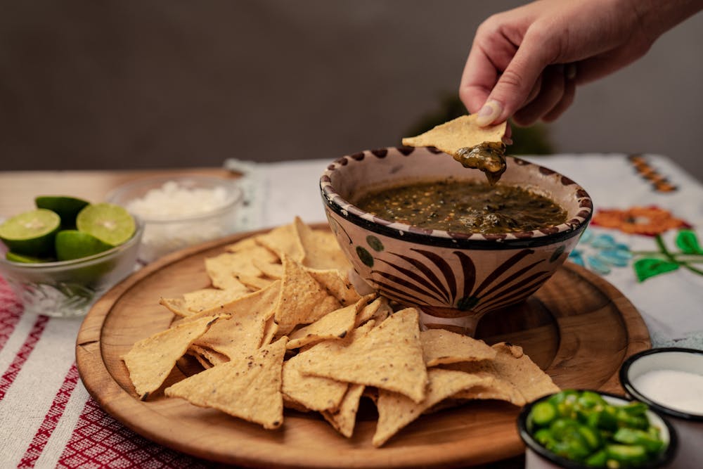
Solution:
<svg viewBox="0 0 703 469"><path fill-rule="evenodd" d="M382 148L347 155L320 179L329 224L356 276L382 295L419 307L427 327L471 333L489 311L522 302L565 261L591 219L588 193L562 174L508 157L499 184L546 195L567 222L523 233L453 233L375 217L354 206L368 188L427 179L486 181L428 148Z"/></svg>

